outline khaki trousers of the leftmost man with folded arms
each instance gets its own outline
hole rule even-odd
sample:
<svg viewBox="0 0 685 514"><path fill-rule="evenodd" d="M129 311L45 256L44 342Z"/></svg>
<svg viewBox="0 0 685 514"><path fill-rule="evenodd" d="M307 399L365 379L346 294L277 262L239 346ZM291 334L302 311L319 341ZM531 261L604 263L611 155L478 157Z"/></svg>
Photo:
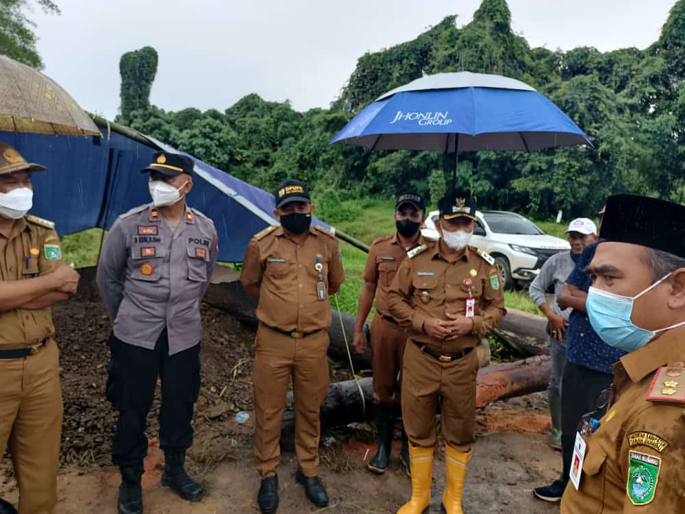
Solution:
<svg viewBox="0 0 685 514"><path fill-rule="evenodd" d="M9 445L19 514L57 512L64 411L59 353L51 339L34 355L0 359L0 458Z"/></svg>

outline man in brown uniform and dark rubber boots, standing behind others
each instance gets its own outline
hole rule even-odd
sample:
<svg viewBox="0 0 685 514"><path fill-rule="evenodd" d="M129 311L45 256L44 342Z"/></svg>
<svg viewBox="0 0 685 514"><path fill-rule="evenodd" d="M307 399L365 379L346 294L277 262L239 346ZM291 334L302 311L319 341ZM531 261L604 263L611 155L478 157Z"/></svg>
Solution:
<svg viewBox="0 0 685 514"><path fill-rule="evenodd" d="M373 241L366 258L364 287L359 297L357 321L354 330L354 347L364 353L364 323L369 317L373 297L376 297L376 315L371 323L371 367L373 369L373 411L378 432L378 450L369 461L374 473L382 474L388 467L395 432L395 408L399 405L399 375L402 356L407 343L407 332L397 326L388 309L388 290L397 268L407 252L426 244L421 236L425 221L425 201L419 193L401 193L395 202L397 232ZM376 294L377 293L377 294ZM402 430L401 460L410 473L409 445Z"/></svg>

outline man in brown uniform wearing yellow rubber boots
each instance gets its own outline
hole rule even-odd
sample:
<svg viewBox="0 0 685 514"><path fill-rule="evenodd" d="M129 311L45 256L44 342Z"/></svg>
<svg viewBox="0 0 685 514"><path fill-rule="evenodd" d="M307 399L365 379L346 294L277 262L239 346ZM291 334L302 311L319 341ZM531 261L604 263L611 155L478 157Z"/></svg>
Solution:
<svg viewBox="0 0 685 514"><path fill-rule="evenodd" d="M402 417L409 436L412 498L399 514L430 503L438 403L447 455L443 509L462 513L471 456L482 336L506 313L494 259L468 246L475 203L464 195L438 203L440 241L412 250L390 286L390 315L408 328L402 367Z"/></svg>

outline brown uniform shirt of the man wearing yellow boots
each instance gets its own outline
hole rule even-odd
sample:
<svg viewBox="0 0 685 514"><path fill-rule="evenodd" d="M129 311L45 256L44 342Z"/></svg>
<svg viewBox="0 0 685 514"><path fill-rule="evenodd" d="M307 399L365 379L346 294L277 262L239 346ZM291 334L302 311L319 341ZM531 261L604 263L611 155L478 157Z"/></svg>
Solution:
<svg viewBox="0 0 685 514"><path fill-rule="evenodd" d="M410 256L399 267L390 286L388 303L390 315L399 326L408 328L410 339L426 343L438 352L460 352L475 347L506 314L497 270L476 251L474 247L466 247L460 258L448 262L440 254L438 241ZM444 341L423 332L423 322L428 318L447 320L447 313L466 312L467 280L471 280L471 294L475 299L471 333Z"/></svg>

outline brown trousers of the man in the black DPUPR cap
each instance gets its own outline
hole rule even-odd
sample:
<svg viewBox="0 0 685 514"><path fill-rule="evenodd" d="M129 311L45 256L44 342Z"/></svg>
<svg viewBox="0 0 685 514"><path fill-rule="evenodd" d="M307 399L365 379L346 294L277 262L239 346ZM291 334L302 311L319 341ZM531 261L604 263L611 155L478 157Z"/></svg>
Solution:
<svg viewBox="0 0 685 514"><path fill-rule="evenodd" d="M292 378L295 452L305 476L319 474L321 404L328 389L328 333L294 339L260 324L252 380L255 395L255 460L262 478L276 473L279 441Z"/></svg>

